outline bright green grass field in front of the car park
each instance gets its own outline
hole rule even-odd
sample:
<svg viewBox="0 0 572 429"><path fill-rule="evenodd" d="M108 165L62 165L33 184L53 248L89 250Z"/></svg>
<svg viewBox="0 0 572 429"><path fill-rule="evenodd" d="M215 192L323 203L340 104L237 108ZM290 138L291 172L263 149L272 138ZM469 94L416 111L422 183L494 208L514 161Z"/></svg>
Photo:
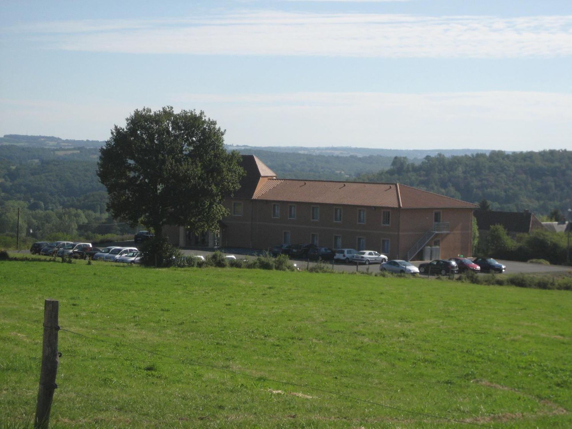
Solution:
<svg viewBox="0 0 572 429"><path fill-rule="evenodd" d="M0 426L33 421L47 297L53 427L572 426L569 291L6 261L0 294Z"/></svg>

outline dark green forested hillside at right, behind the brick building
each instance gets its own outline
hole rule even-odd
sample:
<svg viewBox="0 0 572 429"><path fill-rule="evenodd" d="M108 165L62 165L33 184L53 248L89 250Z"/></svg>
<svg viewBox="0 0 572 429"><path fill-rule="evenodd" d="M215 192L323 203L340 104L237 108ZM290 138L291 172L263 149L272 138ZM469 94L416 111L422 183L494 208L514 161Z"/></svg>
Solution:
<svg viewBox="0 0 572 429"><path fill-rule="evenodd" d="M414 164L395 157L391 168L356 180L399 182L470 202L486 198L493 210L529 209L547 214L572 206L572 152L505 153L426 157Z"/></svg>

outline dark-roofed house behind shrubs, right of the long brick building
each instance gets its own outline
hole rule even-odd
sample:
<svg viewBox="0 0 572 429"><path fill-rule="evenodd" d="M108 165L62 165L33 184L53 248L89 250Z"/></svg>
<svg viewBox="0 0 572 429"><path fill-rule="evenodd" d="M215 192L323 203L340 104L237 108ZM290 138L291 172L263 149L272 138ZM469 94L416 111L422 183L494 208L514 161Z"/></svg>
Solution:
<svg viewBox="0 0 572 429"><path fill-rule="evenodd" d="M502 225L510 236L518 233L529 233L533 229L544 228L541 221L533 213L523 212L495 212L492 210L475 210L476 225L479 237L486 236L492 225Z"/></svg>

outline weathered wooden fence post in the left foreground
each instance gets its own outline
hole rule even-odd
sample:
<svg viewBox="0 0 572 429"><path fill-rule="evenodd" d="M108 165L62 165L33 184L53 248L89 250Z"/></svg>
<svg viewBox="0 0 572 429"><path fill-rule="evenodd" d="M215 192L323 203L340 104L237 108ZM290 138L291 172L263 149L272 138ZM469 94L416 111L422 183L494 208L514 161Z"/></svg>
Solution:
<svg viewBox="0 0 572 429"><path fill-rule="evenodd" d="M58 372L58 308L59 301L46 299L43 307L42 368L39 375L35 429L47 429L51 401L54 398L55 375Z"/></svg>

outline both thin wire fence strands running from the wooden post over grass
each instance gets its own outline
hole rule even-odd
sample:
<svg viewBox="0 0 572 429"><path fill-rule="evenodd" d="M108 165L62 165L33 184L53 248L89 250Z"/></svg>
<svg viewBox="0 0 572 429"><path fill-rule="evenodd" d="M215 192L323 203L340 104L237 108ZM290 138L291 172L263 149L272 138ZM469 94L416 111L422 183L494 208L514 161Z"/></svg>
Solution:
<svg viewBox="0 0 572 429"><path fill-rule="evenodd" d="M170 360L174 361L174 362L160 362L160 363L181 364L181 365L188 365L188 366L200 366L200 367L211 368L213 370L224 371L224 372L228 372L230 374L235 374L235 375L238 375L241 377L252 378L252 379L261 379L261 376L248 374L247 372L243 372L243 371L283 372L283 373L291 373L291 374L296 374L296 375L312 374L312 375L327 376L327 377L332 377L332 376L340 377L341 376L341 377L348 377L348 378L351 378L351 377L366 378L366 379L370 379L370 380L393 380L393 381L399 381L399 382L419 382L419 380L403 380L403 379L392 379L392 378L383 379L383 378L370 378L367 376L345 376L345 375L340 375L340 374L332 375L332 374L326 374L326 373L321 373L321 372L312 372L312 371L269 370L268 368L252 368L252 367L250 367L250 368L232 367L231 368L231 367L225 367L225 366L205 363L205 362L201 362L199 360L185 359L185 358L179 358L178 356L166 355L165 353L154 352L152 350L145 349L142 347L137 347L135 345L124 344L124 343L121 343L120 341L117 341L117 340L102 339L99 337L89 336L89 335L85 335L85 334L80 333L80 332L72 331L70 329L65 329L65 328L61 328L61 327L59 327L59 331L69 332L72 335L84 337L86 339L99 341L101 343L113 344L115 347L132 349L132 350L148 353L149 355L152 355L152 356L157 356L159 358L170 359ZM96 356L85 356L85 355L66 355L66 356L70 357L70 358L110 359L110 360L124 360L124 361L129 361L129 362L149 362L148 360L135 360L135 359L131 359L131 358L118 358L118 357L96 357ZM488 424L470 422L467 420L459 420L459 419L448 418L445 416L429 414L429 413L425 413L425 412L407 410L406 408L394 407L394 406L390 406L390 405L383 404L380 402L375 402L373 400L358 398L357 396L344 394L342 392L336 392L336 391L327 390L327 389L324 389L321 387L311 386L311 385L306 384L306 383L304 383L304 384L303 383L294 383L294 382L289 382L287 380L277 380L277 379L271 379L268 377L264 377L263 379L267 382L283 384L284 386L301 387L301 388L305 388L308 390L321 392L321 393L328 394L328 395L337 396L339 398L351 399L351 400L355 400L357 402L367 403L367 404L375 405L378 407L386 408L389 410L404 412L407 414L423 416L423 417L432 418L432 419L446 420L448 422L455 422L455 423L459 423L459 424L468 424L471 426L478 426L478 427L486 427L486 428L495 429L494 426L490 426ZM431 382L422 382L422 383L439 383L439 382L432 380ZM440 383L440 384L446 384L446 383Z"/></svg>

